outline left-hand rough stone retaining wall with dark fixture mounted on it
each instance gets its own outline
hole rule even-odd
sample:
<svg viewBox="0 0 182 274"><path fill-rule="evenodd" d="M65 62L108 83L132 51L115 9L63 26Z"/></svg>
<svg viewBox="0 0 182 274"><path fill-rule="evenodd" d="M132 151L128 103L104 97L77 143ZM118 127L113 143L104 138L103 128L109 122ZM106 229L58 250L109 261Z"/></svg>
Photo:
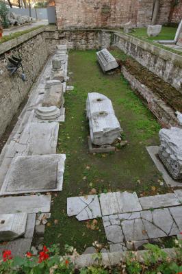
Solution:
<svg viewBox="0 0 182 274"><path fill-rule="evenodd" d="M43 30L38 29L0 45L0 137L47 60L48 51ZM23 59L25 82L21 79L21 69L10 76L6 66L11 55L20 55Z"/></svg>

